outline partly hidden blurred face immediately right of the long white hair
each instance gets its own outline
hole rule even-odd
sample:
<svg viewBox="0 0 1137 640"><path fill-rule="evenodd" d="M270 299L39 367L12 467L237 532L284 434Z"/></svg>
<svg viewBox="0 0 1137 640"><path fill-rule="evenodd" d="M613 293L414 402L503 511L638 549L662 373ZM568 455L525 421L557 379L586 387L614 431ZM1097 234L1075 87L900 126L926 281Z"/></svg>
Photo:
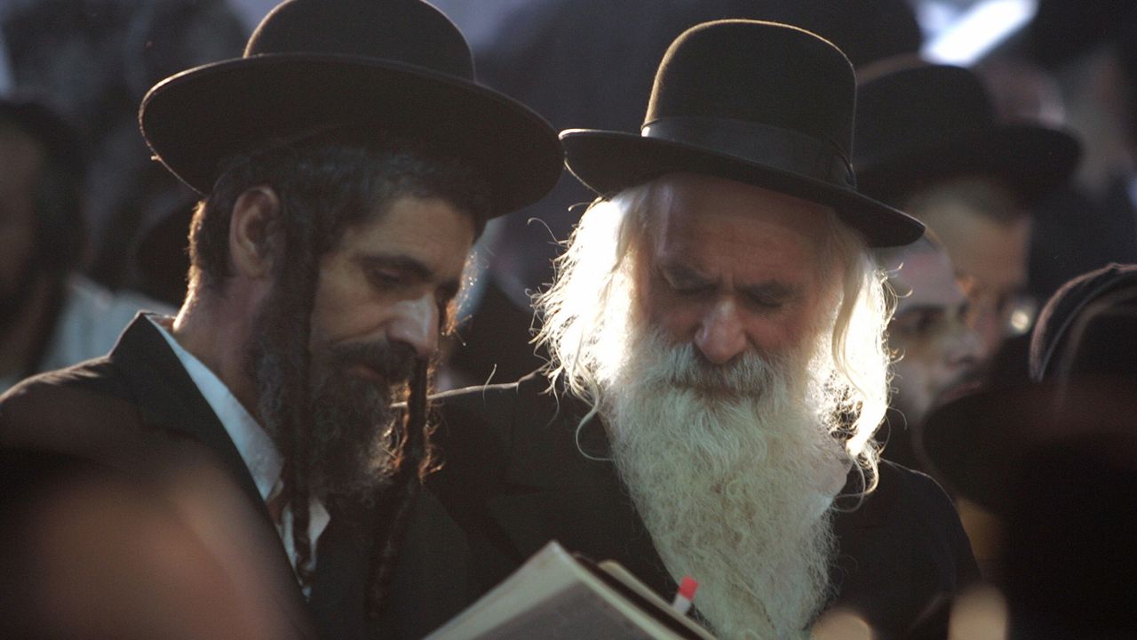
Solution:
<svg viewBox="0 0 1137 640"><path fill-rule="evenodd" d="M903 262L890 279L901 300L889 325L888 346L902 356L894 366L893 404L908 424L920 424L930 409L972 379L986 353L965 322L968 300L947 254L922 245L905 254Z"/></svg>

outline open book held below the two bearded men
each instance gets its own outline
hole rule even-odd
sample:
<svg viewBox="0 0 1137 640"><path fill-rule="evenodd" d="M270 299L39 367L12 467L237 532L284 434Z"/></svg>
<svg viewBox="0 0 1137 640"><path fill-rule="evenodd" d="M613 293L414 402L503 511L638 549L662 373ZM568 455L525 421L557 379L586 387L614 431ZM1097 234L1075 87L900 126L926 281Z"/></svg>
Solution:
<svg viewBox="0 0 1137 640"><path fill-rule="evenodd" d="M619 564L594 565L556 542L426 640L531 638L714 640Z"/></svg>

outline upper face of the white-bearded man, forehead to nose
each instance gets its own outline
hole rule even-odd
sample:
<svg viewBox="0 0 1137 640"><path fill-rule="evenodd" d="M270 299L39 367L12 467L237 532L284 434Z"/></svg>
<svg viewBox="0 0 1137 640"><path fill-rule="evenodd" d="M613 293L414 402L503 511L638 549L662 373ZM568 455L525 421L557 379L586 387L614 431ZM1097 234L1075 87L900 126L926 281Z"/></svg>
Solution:
<svg viewBox="0 0 1137 640"><path fill-rule="evenodd" d="M704 175L671 182L656 206L637 276L652 327L714 364L775 356L812 336L825 206Z"/></svg>

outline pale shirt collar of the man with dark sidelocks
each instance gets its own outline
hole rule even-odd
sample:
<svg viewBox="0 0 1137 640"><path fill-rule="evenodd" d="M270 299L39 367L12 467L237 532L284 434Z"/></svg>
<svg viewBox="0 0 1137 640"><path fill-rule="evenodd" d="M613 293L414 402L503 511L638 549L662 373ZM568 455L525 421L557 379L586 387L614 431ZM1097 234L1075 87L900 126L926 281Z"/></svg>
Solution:
<svg viewBox="0 0 1137 640"><path fill-rule="evenodd" d="M281 458L280 452L276 451L276 445L273 444L272 438L268 437L268 434L265 433L265 429L257 420L249 415L244 405L236 400L233 392L229 391L225 383L221 381L221 378L216 374L209 370L192 353L185 351L174 339L174 336L164 326L171 322L171 319L158 315L147 315L147 319L153 323L161 334L161 337L166 338L166 343L169 344L169 348L174 351L174 355L177 356L182 367L185 368L185 372L190 375L190 379L193 380L198 391L201 392L206 402L209 403L214 413L217 415L217 419L225 427L225 432L229 433L233 445L236 446L236 452L240 453L241 460L248 467L249 474L252 475L252 482L257 485L260 499L267 501L273 487L281 479L281 470L284 468L284 460ZM312 566L316 566L316 543L319 540L319 535L324 533L324 528L327 527L330 516L324 504L315 497L312 498L312 502L308 506L308 514ZM292 541L291 507L284 507L281 522L276 523L276 532L281 536L281 543L284 544L284 550L288 552L289 561L292 563L292 568L296 569L296 544ZM308 596L309 589L307 586L305 586L304 591L305 596Z"/></svg>

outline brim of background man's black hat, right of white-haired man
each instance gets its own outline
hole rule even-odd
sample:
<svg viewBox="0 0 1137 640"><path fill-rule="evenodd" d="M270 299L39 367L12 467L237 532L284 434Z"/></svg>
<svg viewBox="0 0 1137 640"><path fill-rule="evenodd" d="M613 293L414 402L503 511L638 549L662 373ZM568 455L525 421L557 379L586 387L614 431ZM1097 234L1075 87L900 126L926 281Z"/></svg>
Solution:
<svg viewBox="0 0 1137 640"><path fill-rule="evenodd" d="M861 190L881 199L938 178L994 175L1032 204L1070 178L1080 155L1078 141L1063 131L1004 124L916 140L887 156L864 158L856 164L856 174Z"/></svg>

